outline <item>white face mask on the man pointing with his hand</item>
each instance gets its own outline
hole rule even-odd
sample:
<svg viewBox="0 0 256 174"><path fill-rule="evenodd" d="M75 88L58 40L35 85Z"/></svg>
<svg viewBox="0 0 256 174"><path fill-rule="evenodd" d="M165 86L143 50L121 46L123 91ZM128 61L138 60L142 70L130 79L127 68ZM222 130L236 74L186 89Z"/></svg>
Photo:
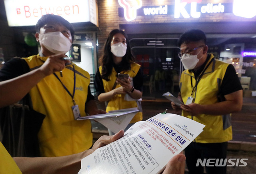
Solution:
<svg viewBox="0 0 256 174"><path fill-rule="evenodd" d="M65 54L70 50L72 43L61 32L39 34L40 43L50 52Z"/></svg>

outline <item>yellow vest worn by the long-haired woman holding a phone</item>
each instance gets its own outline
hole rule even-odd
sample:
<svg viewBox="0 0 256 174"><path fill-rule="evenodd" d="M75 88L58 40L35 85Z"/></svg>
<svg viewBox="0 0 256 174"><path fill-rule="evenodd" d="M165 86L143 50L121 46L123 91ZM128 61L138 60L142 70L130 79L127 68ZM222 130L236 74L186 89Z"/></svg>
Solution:
<svg viewBox="0 0 256 174"><path fill-rule="evenodd" d="M122 71L122 74L129 74L130 77L134 78L140 69L140 65L136 63L131 63L131 69L127 71ZM102 66L99 67L100 74L102 74ZM108 76L109 81L102 79L105 92L112 90L116 82L117 73L113 68L112 73ZM121 85L117 84L116 88L119 88ZM124 100L125 94L115 95L110 101L108 101L108 106L106 107L106 112L111 110L127 109L138 107L136 101L126 101ZM142 112L138 112L130 121L130 123L135 123L142 120Z"/></svg>

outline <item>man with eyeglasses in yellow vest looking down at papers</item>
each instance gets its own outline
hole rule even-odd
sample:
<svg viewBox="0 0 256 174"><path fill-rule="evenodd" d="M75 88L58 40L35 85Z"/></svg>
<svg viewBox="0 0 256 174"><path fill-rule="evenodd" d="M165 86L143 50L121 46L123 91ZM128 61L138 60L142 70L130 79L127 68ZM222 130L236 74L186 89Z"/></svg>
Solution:
<svg viewBox="0 0 256 174"><path fill-rule="evenodd" d="M182 116L200 122L204 131L186 149L186 163L190 174L203 174L198 159L214 159L206 165L208 174L225 174L228 141L232 140L231 113L242 109L242 86L232 64L208 54L206 35L201 30L189 30L178 40L179 57L185 68L180 77L178 99L174 110L182 109ZM189 126L189 125L188 125ZM216 159L223 159L216 166ZM218 163L218 164L219 164Z"/></svg>

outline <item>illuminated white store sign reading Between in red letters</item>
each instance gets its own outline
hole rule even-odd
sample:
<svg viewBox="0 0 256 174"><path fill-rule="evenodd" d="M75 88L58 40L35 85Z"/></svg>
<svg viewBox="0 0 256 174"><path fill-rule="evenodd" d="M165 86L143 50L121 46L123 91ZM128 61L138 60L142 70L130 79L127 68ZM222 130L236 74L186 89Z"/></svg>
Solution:
<svg viewBox="0 0 256 174"><path fill-rule="evenodd" d="M4 5L9 26L34 26L45 14L97 25L95 0L4 0Z"/></svg>

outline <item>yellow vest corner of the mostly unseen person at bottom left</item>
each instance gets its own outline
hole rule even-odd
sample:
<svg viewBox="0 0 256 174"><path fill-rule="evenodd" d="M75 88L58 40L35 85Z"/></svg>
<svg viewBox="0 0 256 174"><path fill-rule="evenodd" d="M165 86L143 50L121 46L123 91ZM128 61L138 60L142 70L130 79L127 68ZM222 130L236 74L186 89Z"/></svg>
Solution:
<svg viewBox="0 0 256 174"><path fill-rule="evenodd" d="M0 142L0 174L22 174L17 164Z"/></svg>

